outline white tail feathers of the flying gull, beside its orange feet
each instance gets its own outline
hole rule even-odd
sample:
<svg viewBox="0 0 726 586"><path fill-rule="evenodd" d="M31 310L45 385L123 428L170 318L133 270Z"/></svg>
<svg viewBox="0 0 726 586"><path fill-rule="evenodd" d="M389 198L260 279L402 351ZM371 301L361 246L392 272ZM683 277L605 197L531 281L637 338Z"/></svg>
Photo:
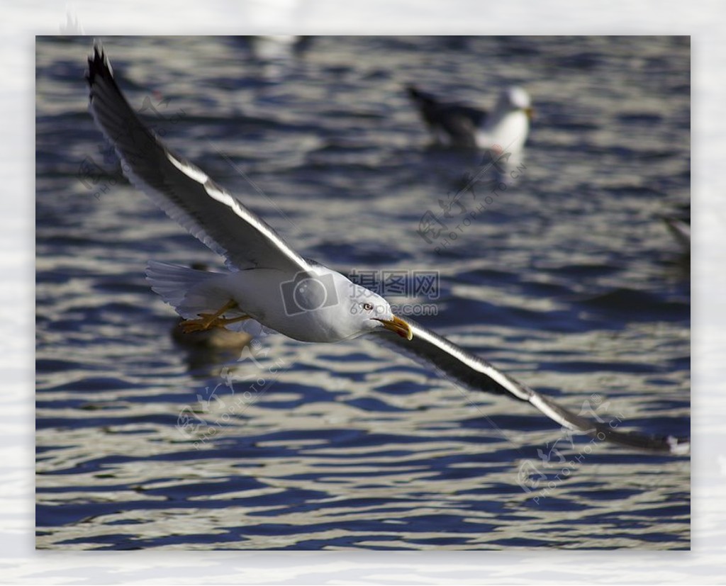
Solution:
<svg viewBox="0 0 726 586"><path fill-rule="evenodd" d="M229 302L229 292L221 280L229 273L210 273L150 260L146 268L146 280L161 299L171 305L182 318L195 319L200 313L213 313ZM243 310L229 310L226 317L243 315ZM254 319L238 321L225 326L232 331L246 331L260 337L276 333Z"/></svg>

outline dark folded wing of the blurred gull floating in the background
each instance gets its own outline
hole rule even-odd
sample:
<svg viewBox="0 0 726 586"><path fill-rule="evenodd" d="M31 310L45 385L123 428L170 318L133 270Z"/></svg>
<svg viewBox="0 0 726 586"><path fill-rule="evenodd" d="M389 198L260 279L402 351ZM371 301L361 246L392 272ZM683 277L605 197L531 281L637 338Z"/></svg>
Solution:
<svg viewBox="0 0 726 586"><path fill-rule="evenodd" d="M439 102L415 86L408 86L407 91L432 131L444 131L452 144L460 147L476 147L476 130L484 125L487 116L484 110Z"/></svg>

